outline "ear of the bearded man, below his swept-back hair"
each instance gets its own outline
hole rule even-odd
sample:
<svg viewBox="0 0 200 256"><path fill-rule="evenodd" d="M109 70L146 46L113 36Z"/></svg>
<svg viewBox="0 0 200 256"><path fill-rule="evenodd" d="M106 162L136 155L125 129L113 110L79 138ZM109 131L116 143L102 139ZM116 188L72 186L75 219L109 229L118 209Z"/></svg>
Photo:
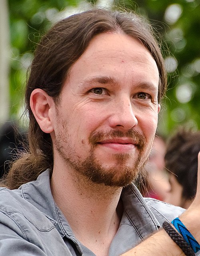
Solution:
<svg viewBox="0 0 200 256"><path fill-rule="evenodd" d="M30 107L41 130L45 133L53 132L52 114L55 113L53 98L48 96L44 90L37 88L30 96Z"/></svg>

